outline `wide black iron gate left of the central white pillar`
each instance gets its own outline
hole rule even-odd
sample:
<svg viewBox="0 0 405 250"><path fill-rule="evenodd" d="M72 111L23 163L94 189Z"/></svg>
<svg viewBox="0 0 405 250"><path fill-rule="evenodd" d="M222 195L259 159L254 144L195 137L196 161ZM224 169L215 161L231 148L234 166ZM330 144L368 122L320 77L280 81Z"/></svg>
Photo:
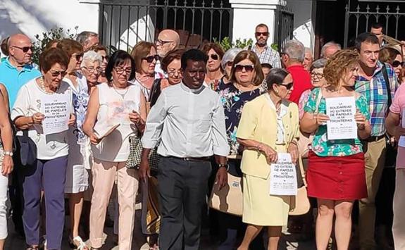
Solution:
<svg viewBox="0 0 405 250"><path fill-rule="evenodd" d="M112 49L129 51L139 41L154 42L163 29L177 30L185 47L232 39L229 0L104 0L99 13L99 37Z"/></svg>

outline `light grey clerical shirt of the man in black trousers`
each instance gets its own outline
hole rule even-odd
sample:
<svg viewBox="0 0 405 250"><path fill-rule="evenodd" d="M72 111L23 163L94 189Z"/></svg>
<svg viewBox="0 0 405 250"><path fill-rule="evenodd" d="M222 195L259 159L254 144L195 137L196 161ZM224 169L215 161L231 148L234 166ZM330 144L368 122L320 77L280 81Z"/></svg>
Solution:
<svg viewBox="0 0 405 250"><path fill-rule="evenodd" d="M144 148L175 157L228 156L225 115L220 96L202 85L183 83L163 89L151 108L142 137Z"/></svg>

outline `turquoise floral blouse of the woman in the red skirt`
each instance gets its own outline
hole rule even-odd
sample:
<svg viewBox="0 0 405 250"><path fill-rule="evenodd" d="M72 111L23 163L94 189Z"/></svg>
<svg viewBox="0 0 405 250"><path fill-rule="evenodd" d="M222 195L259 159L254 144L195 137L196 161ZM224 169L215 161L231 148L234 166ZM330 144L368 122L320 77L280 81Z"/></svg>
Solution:
<svg viewBox="0 0 405 250"><path fill-rule="evenodd" d="M317 112L315 110L316 101L318 100L320 89L321 88L313 89L311 94L309 94L309 100L304 108L305 112ZM366 116L367 120L370 120L370 112L368 110L368 104L365 96L360 95L356 98L356 108L360 113ZM326 101L324 97L320 99L318 113L326 113ZM311 149L313 153L318 156L352 156L354 154L363 152L363 144L361 144L359 138L328 140L327 127L326 125L321 125L318 127L318 130L313 137Z"/></svg>

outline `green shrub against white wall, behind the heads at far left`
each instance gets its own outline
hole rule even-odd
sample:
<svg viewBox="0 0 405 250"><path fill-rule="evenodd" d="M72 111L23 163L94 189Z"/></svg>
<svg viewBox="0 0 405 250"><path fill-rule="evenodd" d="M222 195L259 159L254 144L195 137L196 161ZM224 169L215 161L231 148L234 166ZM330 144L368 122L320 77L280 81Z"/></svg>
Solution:
<svg viewBox="0 0 405 250"><path fill-rule="evenodd" d="M70 29L65 31L62 27L55 27L49 31L43 32L42 36L35 35L37 40L33 43L35 49L34 54L32 54L32 61L37 64L39 63L39 55L44 51L46 44L51 42L51 40L64 38L75 39L77 28L78 26L76 26L74 32L72 32Z"/></svg>

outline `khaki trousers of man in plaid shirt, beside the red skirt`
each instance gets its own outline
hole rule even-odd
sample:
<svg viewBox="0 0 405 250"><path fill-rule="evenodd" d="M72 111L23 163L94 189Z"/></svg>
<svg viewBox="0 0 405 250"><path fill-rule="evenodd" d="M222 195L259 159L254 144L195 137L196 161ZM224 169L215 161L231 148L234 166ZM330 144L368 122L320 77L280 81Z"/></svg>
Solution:
<svg viewBox="0 0 405 250"><path fill-rule="evenodd" d="M359 243L361 249L375 249L375 195L380 185L382 170L385 164L385 138L365 145L366 162L366 199L359 201Z"/></svg>

